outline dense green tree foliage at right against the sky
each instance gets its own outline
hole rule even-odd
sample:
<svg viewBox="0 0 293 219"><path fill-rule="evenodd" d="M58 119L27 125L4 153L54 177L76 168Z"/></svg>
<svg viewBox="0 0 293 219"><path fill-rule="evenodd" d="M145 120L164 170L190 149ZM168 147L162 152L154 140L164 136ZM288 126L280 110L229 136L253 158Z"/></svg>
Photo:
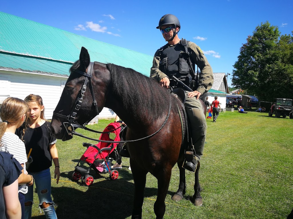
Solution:
<svg viewBox="0 0 293 219"><path fill-rule="evenodd" d="M240 48L232 85L256 94L261 100L292 98L293 37L282 35L267 21L255 28Z"/></svg>

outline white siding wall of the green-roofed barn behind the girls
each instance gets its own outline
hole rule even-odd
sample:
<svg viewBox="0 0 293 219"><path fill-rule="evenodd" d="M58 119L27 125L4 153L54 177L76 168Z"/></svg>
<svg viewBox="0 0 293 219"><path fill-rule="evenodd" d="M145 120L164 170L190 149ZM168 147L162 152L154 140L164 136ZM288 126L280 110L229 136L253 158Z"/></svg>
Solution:
<svg viewBox="0 0 293 219"><path fill-rule="evenodd" d="M33 93L42 97L45 106L45 118L52 119L67 78L26 72L0 71L0 103L7 97L24 99ZM115 113L103 108L97 118L115 117ZM97 122L95 119L93 122Z"/></svg>

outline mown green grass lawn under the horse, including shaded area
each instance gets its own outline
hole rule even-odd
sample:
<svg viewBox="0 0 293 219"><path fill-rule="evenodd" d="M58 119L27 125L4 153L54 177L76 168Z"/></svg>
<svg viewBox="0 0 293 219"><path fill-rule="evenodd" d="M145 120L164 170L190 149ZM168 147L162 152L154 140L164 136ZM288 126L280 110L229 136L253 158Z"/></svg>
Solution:
<svg viewBox="0 0 293 219"><path fill-rule="evenodd" d="M110 122L100 120L89 127L103 131ZM188 171L184 199L178 203L171 200L179 182L175 166L164 218L286 218L293 208L292 127L293 119L252 111L221 112L216 123L207 119L207 143L200 169L203 206L196 207L189 200L194 193L194 174ZM84 130L78 132L99 137ZM52 179L52 197L58 205L58 218L130 219L134 183L129 159L122 158L117 180L110 180L108 173L92 171L95 180L90 187L80 180L72 182L71 174L86 149L82 142L94 143L78 136L57 141L61 177L58 185ZM54 168L51 175L53 178ZM156 193L156 178L148 174L143 218L155 218ZM33 218L45 218L38 209L36 193L34 201Z"/></svg>

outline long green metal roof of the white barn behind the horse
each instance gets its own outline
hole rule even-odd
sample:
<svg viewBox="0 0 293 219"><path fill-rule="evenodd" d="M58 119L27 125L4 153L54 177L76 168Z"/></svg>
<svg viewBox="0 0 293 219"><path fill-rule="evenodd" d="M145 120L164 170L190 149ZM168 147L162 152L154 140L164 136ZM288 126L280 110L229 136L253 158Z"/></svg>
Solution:
<svg viewBox="0 0 293 219"><path fill-rule="evenodd" d="M153 57L0 12L0 67L69 75L84 46L91 61L149 76Z"/></svg>

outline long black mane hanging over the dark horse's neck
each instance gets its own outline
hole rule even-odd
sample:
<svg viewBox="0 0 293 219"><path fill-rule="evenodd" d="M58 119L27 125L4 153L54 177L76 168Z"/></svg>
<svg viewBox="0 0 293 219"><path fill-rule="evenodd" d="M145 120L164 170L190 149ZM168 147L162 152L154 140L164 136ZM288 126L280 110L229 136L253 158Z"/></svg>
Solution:
<svg viewBox="0 0 293 219"><path fill-rule="evenodd" d="M111 63L106 66L110 71L113 93L123 98L127 111L137 112L136 119L148 117L152 120L168 113L171 95L166 88L133 69Z"/></svg>

